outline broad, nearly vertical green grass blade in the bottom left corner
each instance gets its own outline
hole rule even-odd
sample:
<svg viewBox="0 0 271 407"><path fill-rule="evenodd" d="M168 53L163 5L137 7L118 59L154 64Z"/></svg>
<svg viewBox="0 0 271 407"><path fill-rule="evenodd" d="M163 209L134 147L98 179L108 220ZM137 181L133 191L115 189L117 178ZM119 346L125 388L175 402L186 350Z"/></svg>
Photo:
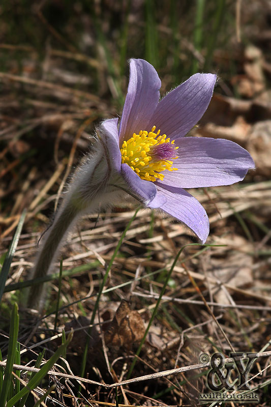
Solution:
<svg viewBox="0 0 271 407"><path fill-rule="evenodd" d="M11 313L8 357L7 357L7 364L6 364L6 368L5 368L4 382L3 382L2 391L1 391L1 395L0 395L0 405L3 405L3 406L6 405L7 397L8 397L11 386L13 388L12 368L13 368L16 350L17 350L18 331L19 331L19 314L18 314L18 305L15 303L13 306L13 309L12 309L12 313Z"/></svg>

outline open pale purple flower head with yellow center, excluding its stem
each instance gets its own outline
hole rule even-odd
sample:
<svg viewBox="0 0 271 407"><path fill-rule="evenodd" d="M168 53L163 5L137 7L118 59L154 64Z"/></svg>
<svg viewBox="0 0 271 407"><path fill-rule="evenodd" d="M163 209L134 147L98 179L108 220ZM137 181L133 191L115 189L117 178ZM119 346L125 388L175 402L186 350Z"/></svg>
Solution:
<svg viewBox="0 0 271 407"><path fill-rule="evenodd" d="M185 137L208 107L215 83L216 75L197 73L159 100L154 67L131 60L119 127L118 119L110 119L98 130L121 188L185 223L202 243L208 217L184 188L230 185L254 168L250 154L232 141Z"/></svg>

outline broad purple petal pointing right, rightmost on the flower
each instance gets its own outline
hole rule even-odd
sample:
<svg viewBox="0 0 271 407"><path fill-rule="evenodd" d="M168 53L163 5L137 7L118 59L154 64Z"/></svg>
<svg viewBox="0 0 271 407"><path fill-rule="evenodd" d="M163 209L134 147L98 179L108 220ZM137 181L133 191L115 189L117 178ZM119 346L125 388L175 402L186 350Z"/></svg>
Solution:
<svg viewBox="0 0 271 407"><path fill-rule="evenodd" d="M255 168L247 150L230 140L183 137L175 141L177 171L164 171L162 184L180 188L216 187L242 181Z"/></svg>

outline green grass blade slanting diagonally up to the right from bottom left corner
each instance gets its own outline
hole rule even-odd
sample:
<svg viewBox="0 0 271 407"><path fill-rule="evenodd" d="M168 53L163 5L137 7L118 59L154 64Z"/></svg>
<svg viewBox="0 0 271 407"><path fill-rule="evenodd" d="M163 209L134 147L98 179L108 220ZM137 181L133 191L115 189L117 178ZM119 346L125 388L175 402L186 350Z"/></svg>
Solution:
<svg viewBox="0 0 271 407"><path fill-rule="evenodd" d="M40 384L43 377L46 376L46 374L56 363L58 358L63 354L64 350L66 349L68 344L71 342L72 337L73 337L73 334L70 333L66 342L63 345L58 347L57 351L53 354L53 356L51 356L51 358L45 363L45 365L42 366L40 371L38 373L36 373L35 376L32 377L31 380L29 380L27 387L24 387L19 393L15 394L15 396L12 397L12 399L10 399L7 402L7 407L13 407L13 405L17 401L19 401L21 397L24 397L26 394L29 393L29 391L34 390ZM0 405L5 405L5 404L0 403Z"/></svg>

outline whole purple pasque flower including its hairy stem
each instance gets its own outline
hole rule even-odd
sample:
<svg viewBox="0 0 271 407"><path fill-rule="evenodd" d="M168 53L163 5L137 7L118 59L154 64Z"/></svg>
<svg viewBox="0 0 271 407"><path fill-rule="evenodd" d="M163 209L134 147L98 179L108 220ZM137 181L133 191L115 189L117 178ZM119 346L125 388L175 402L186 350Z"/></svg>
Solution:
<svg viewBox="0 0 271 407"><path fill-rule="evenodd" d="M124 192L145 207L162 209L206 241L206 212L184 188L233 184L254 168L250 154L232 141L185 137L205 112L215 83L216 75L198 73L160 100L161 81L154 67L130 61L121 121L105 120L98 127L93 152L75 171L46 234L34 278L49 273L78 217L111 205ZM40 302L41 292L41 285L32 287L29 306Z"/></svg>

